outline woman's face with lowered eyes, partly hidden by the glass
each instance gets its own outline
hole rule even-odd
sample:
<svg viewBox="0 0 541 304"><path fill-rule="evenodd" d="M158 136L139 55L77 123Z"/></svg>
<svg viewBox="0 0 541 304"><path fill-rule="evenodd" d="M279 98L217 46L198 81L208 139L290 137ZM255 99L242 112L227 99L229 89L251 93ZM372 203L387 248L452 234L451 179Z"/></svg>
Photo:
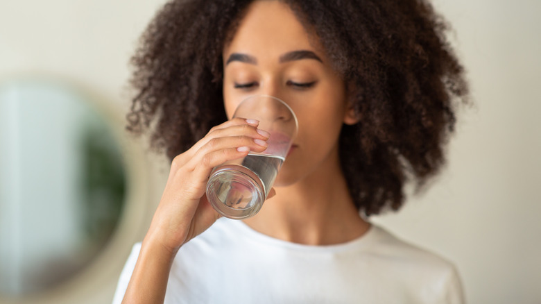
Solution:
<svg viewBox="0 0 541 304"><path fill-rule="evenodd" d="M310 39L293 11L280 1L255 1L223 50L225 111L232 117L247 96L285 101L298 118L298 136L275 181L291 185L325 163L337 162L343 122L352 124L345 83L318 39Z"/></svg>

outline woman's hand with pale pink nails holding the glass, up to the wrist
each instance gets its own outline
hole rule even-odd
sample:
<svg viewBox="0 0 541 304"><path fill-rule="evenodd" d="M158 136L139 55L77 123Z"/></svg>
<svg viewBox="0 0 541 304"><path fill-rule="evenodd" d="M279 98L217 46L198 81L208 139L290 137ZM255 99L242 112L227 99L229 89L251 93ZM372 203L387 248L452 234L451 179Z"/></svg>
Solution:
<svg viewBox="0 0 541 304"><path fill-rule="evenodd" d="M205 195L209 175L223 162L243 158L249 151L266 149L269 135L257 129L258 124L241 118L226 121L173 159L145 242L157 242L174 255L180 246L203 233L220 217Z"/></svg>

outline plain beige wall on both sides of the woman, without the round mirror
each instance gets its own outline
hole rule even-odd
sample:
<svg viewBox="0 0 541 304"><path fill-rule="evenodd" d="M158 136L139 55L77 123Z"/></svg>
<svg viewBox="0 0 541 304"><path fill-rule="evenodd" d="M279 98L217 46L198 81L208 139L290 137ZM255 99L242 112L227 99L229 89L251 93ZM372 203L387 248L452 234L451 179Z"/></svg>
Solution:
<svg viewBox="0 0 541 304"><path fill-rule="evenodd" d="M128 57L162 2L2 0L0 81L65 79L121 113ZM402 212L374 221L456 262L469 303L541 303L541 1L435 4L456 30L475 106L463 110L443 175ZM148 177L148 206L163 187L160 164ZM148 225L146 214L137 229L124 222L127 237L117 237L114 253L49 294L51 303L109 303L129 244Z"/></svg>

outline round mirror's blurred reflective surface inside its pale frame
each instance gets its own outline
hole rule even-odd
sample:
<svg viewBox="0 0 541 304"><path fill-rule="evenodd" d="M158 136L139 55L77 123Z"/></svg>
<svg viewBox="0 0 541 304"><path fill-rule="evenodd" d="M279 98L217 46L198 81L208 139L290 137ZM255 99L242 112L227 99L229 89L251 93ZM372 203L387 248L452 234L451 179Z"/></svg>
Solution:
<svg viewBox="0 0 541 304"><path fill-rule="evenodd" d="M111 237L125 196L119 146L85 96L0 84L0 294L53 287Z"/></svg>

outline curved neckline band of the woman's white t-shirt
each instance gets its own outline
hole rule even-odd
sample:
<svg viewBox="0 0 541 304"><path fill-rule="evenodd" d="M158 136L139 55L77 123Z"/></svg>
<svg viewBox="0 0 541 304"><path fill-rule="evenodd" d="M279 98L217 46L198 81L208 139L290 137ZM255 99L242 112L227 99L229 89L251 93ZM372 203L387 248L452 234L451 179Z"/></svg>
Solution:
<svg viewBox="0 0 541 304"><path fill-rule="evenodd" d="M234 228L235 230L237 230L237 232L239 232L239 234L234 233L234 237L244 237L252 242L256 242L258 244L266 244L275 248L286 248L295 251L311 251L321 253L336 253L343 251L351 251L354 249L370 248L370 244L375 242L375 239L377 239L377 235L381 233L381 228L375 226L373 223L370 223L370 227L368 228L368 230L366 230L365 233L363 233L363 235L348 242L331 245L306 245L288 242L284 241L283 239L276 239L275 237L265 235L264 233L260 233L259 231L252 229L243 221L231 219L223 219L223 221L230 221L230 223L228 223L228 226Z"/></svg>

